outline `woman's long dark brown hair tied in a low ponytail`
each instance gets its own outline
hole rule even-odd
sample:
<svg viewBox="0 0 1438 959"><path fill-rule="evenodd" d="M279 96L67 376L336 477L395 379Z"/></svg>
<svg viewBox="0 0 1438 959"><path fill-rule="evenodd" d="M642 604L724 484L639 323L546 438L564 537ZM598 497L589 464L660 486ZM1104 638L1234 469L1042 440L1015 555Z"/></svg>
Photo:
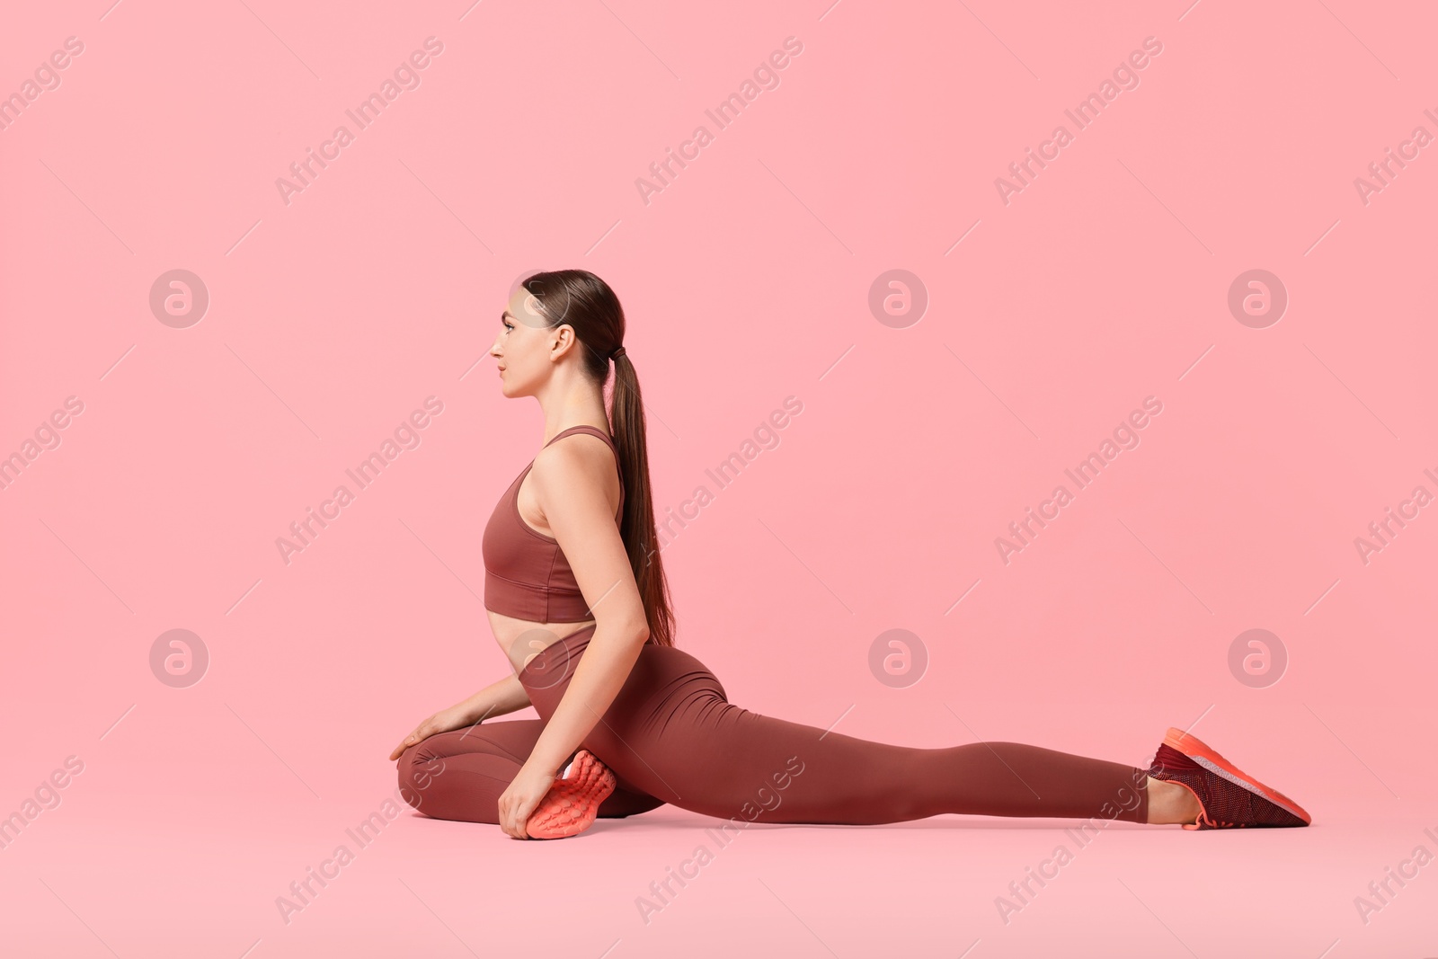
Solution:
<svg viewBox="0 0 1438 959"><path fill-rule="evenodd" d="M548 270L521 283L535 298L535 309L549 328L568 324L584 347L584 370L603 388L610 378L610 354L624 345L624 308L608 283L588 270ZM654 502L649 485L649 446L644 439L644 397L638 375L627 355L614 358L614 390L610 394L610 423L624 477L624 515L620 536L644 601L649 638L674 644L674 614L669 582L659 558Z"/></svg>

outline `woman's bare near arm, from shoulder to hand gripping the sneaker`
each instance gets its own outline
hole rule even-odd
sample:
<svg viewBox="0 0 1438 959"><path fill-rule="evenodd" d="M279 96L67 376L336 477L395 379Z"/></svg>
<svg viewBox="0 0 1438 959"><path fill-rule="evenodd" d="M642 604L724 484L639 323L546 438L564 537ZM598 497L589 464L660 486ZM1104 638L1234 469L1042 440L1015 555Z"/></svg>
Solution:
<svg viewBox="0 0 1438 959"><path fill-rule="evenodd" d="M526 837L525 820L554 785L561 763L618 696L649 638L614 503L604 493L614 459L600 443L595 437L592 444L545 447L529 472L545 522L594 612L595 630L529 759L499 798L499 825L519 838Z"/></svg>

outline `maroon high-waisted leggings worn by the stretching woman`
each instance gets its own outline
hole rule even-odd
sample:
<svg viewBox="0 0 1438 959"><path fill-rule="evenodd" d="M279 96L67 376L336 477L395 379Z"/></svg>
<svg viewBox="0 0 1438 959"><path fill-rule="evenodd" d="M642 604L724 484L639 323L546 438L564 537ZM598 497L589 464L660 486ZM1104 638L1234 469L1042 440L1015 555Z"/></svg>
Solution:
<svg viewBox="0 0 1438 959"><path fill-rule="evenodd" d="M400 758L401 794L439 820L498 822L499 797L528 759L594 635L545 647L519 673L539 719L430 736ZM584 749L618 779L615 818L669 802L720 818L874 824L943 812L1148 821L1148 772L1015 742L917 749L761 716L729 703L689 653L646 644ZM572 758L572 756L571 756Z"/></svg>

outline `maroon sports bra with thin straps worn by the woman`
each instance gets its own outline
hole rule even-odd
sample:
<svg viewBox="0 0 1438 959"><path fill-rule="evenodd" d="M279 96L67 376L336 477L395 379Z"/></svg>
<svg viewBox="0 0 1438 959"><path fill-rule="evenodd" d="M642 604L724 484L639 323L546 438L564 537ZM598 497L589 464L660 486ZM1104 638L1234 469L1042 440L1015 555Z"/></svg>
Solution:
<svg viewBox="0 0 1438 959"><path fill-rule="evenodd" d="M592 426L574 426L555 434L588 433L618 450L608 433ZM545 446L549 446L545 443ZM590 611L574 569L559 549L559 541L545 536L519 516L519 486L533 469L533 460L499 497L485 526L480 552L485 556L485 608L532 623L581 623L595 618ZM620 472L620 516L624 515L624 473Z"/></svg>

